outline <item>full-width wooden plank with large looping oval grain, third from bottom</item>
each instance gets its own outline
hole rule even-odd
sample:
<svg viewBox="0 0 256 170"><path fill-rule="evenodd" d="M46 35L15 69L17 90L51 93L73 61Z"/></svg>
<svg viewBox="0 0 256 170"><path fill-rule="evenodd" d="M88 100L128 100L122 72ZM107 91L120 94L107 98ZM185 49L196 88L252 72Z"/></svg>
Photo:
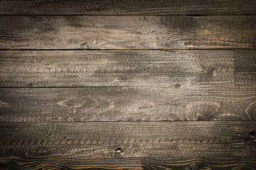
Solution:
<svg viewBox="0 0 256 170"><path fill-rule="evenodd" d="M255 86L1 88L1 122L256 120Z"/></svg>

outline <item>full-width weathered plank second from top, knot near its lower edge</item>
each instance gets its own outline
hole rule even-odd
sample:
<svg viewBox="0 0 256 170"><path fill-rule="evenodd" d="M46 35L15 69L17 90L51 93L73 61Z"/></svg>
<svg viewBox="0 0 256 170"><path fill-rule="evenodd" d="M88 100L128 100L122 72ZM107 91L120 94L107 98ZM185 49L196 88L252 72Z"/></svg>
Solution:
<svg viewBox="0 0 256 170"><path fill-rule="evenodd" d="M256 16L0 16L1 49L255 49Z"/></svg>

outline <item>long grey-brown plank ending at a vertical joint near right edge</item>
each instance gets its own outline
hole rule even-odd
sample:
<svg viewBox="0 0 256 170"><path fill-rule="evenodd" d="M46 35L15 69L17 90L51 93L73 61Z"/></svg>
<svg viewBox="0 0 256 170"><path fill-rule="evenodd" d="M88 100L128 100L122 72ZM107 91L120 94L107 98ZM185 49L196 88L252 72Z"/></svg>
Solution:
<svg viewBox="0 0 256 170"><path fill-rule="evenodd" d="M0 86L234 84L234 60L233 50L0 51Z"/></svg>

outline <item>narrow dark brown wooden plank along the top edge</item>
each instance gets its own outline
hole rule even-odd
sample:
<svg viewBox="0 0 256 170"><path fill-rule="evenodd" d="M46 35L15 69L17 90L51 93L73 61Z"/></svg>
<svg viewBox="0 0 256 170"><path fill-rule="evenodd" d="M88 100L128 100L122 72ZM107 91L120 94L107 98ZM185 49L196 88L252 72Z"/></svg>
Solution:
<svg viewBox="0 0 256 170"><path fill-rule="evenodd" d="M0 14L256 14L255 0L9 0L0 1Z"/></svg>

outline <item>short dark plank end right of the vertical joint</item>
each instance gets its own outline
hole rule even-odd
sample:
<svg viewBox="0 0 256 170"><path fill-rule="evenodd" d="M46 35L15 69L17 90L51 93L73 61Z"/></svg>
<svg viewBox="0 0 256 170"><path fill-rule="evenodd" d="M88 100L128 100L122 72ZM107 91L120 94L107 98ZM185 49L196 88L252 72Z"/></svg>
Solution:
<svg viewBox="0 0 256 170"><path fill-rule="evenodd" d="M235 84L256 86L256 51L235 52Z"/></svg>

